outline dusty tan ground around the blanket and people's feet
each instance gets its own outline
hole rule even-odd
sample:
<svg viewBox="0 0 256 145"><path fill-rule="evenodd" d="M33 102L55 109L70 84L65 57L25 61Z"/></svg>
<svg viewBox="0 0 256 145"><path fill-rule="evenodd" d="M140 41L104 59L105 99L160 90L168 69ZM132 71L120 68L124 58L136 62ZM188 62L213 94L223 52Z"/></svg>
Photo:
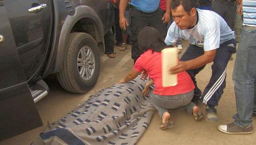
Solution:
<svg viewBox="0 0 256 145"><path fill-rule="evenodd" d="M183 44L184 48L188 46L187 42ZM34 138L40 134L47 122L53 122L64 116L80 103L83 103L91 94L96 93L105 87L110 87L117 83L125 74L132 69L133 61L131 58L131 49L119 51L115 47L117 58L110 59L106 56L101 58L101 73L96 86L87 94L72 94L64 91L56 80L52 77L45 81L49 84L50 94L39 101L36 106L41 115L44 126L30 130L5 141L0 145L28 145ZM185 49L182 51L182 53ZM235 54L233 55L235 59ZM218 131L217 126L220 124L230 123L233 121L232 116L236 112L235 97L232 83L232 71L234 61L230 61L227 69L226 88L218 106L218 122L207 122L205 120L196 122L192 116L189 116L183 109L170 110L171 116L176 126L169 130L160 130L158 125L160 118L156 112L151 120L149 127L139 139L138 145L156 145L156 144L174 144L174 145L255 145L256 131L248 135L229 135ZM207 85L211 76L211 64L207 65L203 71L197 75L197 81L200 89ZM204 112L205 107L200 105ZM256 120L253 120L256 124Z"/></svg>

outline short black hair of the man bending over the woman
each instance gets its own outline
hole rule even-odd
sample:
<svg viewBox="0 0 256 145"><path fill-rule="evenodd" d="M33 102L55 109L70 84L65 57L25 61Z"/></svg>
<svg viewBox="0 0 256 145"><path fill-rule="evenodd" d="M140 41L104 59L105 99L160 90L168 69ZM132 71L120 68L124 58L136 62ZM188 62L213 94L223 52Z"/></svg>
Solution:
<svg viewBox="0 0 256 145"><path fill-rule="evenodd" d="M176 9L180 4L183 6L188 15L190 15L190 11L193 7L196 8L194 0L172 0L171 9Z"/></svg>

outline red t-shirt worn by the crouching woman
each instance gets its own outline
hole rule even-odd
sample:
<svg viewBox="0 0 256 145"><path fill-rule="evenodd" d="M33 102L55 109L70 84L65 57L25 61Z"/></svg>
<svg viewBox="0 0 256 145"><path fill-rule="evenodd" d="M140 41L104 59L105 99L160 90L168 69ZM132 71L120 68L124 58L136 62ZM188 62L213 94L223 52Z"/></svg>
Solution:
<svg viewBox="0 0 256 145"><path fill-rule="evenodd" d="M195 86L191 77L186 71L178 73L177 85L173 87L162 87L162 55L160 52L154 52L149 49L137 59L134 69L141 72L143 69L147 71L149 77L154 81L154 94L159 95L175 95L184 94L192 91Z"/></svg>

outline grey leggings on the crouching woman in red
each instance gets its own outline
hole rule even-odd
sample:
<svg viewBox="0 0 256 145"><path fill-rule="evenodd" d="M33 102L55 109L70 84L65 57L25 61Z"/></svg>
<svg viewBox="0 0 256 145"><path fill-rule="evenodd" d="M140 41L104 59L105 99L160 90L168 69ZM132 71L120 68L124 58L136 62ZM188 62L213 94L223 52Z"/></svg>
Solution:
<svg viewBox="0 0 256 145"><path fill-rule="evenodd" d="M164 112L168 112L168 109L175 109L184 106L184 109L189 114L192 114L193 106L195 104L191 101L194 95L194 90L171 96L162 96L159 94L154 94L151 101L154 107L158 110L159 116L162 118Z"/></svg>

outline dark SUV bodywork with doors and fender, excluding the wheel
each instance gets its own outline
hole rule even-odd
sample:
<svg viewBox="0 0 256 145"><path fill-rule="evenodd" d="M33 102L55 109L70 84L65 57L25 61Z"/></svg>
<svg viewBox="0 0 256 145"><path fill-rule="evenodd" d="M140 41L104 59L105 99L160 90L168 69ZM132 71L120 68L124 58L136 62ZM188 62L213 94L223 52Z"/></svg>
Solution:
<svg viewBox="0 0 256 145"><path fill-rule="evenodd" d="M47 7L28 12L42 4ZM60 70L74 27L89 25L104 54L113 5L110 0L0 0L0 22L4 36L0 42L0 140L4 140L42 125L30 86Z"/></svg>

